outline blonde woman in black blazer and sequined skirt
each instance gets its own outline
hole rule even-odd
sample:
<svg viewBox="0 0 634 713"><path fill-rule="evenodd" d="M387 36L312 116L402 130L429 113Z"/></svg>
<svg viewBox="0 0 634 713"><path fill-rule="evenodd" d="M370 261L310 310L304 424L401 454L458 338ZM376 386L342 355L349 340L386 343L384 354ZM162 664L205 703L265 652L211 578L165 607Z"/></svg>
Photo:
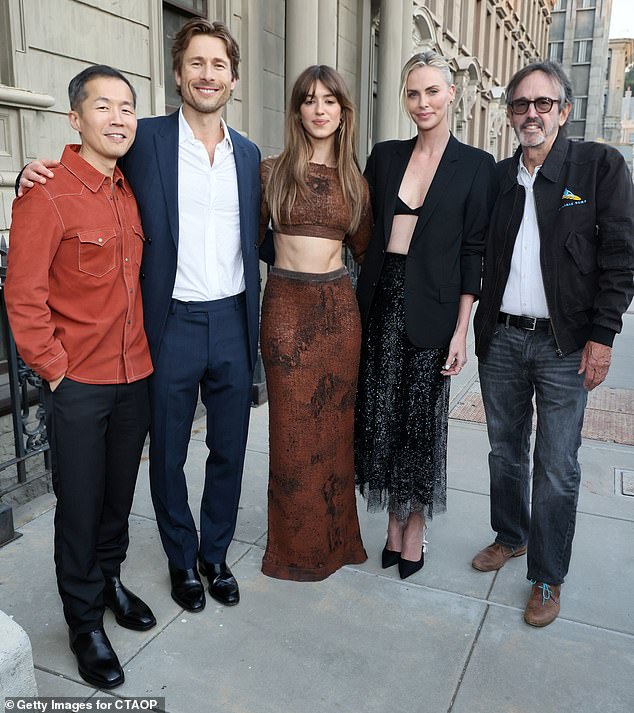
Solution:
<svg viewBox="0 0 634 713"><path fill-rule="evenodd" d="M497 188L493 157L450 133L454 95L446 60L414 55L401 102L418 133L377 144L365 171L375 225L357 287L355 470L368 509L389 512L382 565L402 579L424 564L426 520L446 509L449 377L467 360Z"/></svg>

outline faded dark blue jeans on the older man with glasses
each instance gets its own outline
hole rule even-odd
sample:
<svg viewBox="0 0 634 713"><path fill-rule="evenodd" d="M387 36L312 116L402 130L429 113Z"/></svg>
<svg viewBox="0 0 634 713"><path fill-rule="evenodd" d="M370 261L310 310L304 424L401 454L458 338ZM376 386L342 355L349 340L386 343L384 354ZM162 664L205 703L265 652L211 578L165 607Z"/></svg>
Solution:
<svg viewBox="0 0 634 713"><path fill-rule="evenodd" d="M479 373L491 452L491 527L496 542L528 543L528 579L561 584L575 532L581 469L577 453L587 392L581 350L559 357L552 334L498 325ZM537 435L530 435L533 394Z"/></svg>

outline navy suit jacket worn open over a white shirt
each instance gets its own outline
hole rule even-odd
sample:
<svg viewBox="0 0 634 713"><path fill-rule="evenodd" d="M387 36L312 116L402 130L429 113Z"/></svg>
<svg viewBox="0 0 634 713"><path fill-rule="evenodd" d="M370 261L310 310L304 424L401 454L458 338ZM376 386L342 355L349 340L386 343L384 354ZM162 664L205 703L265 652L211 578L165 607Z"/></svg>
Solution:
<svg viewBox="0 0 634 713"><path fill-rule="evenodd" d="M229 129L233 143L240 241L246 284L246 308L251 367L258 346L260 272L258 234L260 221L260 151ZM136 196L145 246L141 264L141 289L145 333L152 359L158 358L172 300L178 255L178 112L141 119L134 143L119 166Z"/></svg>

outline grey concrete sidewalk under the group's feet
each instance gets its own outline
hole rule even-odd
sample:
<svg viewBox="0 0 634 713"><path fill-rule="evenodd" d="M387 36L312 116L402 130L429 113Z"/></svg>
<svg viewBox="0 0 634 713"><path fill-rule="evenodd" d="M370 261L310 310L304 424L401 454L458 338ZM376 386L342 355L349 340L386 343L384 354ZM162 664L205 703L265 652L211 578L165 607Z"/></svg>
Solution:
<svg viewBox="0 0 634 713"><path fill-rule="evenodd" d="M476 381L475 359L452 385L452 403ZM634 314L625 316L606 386L632 389ZM200 614L169 594L144 460L123 579L153 608L149 632L105 626L126 682L108 697L160 696L169 713L632 713L634 711L634 497L619 469L634 448L583 443L583 483L561 615L524 624L526 559L498 573L470 566L492 541L485 427L450 421L448 512L434 520L423 570L406 581L382 570L386 518L359 501L369 559L325 582L264 577L266 406L252 410L238 528L229 560L235 608L208 597ZM198 503L206 457L194 425L187 472ZM68 649L53 570L53 500L16 512L23 537L0 549L0 609L27 631L41 696L105 694L82 682Z"/></svg>

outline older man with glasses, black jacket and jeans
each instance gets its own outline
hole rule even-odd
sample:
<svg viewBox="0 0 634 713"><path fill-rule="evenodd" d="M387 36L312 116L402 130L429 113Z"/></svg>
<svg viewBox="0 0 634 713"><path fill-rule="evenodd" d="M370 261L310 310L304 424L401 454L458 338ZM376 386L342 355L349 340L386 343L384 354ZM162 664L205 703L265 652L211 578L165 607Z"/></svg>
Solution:
<svg viewBox="0 0 634 713"><path fill-rule="evenodd" d="M496 537L472 565L490 572L528 553L524 620L532 626L559 613L587 392L608 373L634 292L632 177L615 149L565 138L571 102L570 81L553 62L530 64L509 82L520 147L498 164L475 316Z"/></svg>

